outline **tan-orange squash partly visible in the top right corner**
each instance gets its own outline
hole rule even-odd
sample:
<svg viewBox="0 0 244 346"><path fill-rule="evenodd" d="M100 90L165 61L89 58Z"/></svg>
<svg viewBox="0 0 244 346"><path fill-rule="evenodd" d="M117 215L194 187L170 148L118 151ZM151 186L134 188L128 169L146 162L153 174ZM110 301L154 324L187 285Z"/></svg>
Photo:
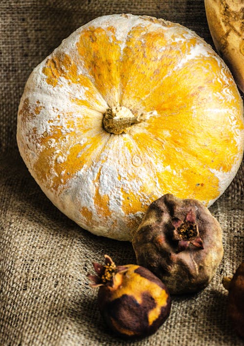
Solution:
<svg viewBox="0 0 244 346"><path fill-rule="evenodd" d="M244 93L244 0L204 0L214 45Z"/></svg>

